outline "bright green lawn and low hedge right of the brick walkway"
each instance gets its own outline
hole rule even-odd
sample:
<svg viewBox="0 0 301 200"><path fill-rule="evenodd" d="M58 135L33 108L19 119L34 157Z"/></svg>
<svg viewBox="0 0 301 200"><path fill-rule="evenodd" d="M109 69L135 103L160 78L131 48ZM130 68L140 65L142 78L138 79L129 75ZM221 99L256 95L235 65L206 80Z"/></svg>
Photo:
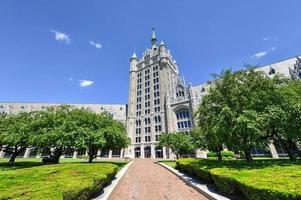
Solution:
<svg viewBox="0 0 301 200"><path fill-rule="evenodd" d="M301 161L179 159L177 167L247 199L301 199Z"/></svg>

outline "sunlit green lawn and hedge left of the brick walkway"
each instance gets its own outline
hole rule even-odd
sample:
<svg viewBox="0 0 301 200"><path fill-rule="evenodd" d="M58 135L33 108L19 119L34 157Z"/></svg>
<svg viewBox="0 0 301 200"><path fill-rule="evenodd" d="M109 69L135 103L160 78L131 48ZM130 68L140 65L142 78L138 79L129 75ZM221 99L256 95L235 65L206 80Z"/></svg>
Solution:
<svg viewBox="0 0 301 200"><path fill-rule="evenodd" d="M8 167L0 159L0 199L89 199L103 188L125 162L83 162L62 159L41 165L41 159L18 159Z"/></svg>

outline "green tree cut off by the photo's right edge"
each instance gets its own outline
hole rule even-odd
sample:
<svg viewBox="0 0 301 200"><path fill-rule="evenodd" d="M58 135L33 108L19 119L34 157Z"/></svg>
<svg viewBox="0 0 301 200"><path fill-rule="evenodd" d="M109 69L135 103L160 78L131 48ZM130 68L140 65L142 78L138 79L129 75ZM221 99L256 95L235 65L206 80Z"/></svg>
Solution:
<svg viewBox="0 0 301 200"><path fill-rule="evenodd" d="M277 102L264 113L266 131L284 147L291 160L296 160L296 143L301 140L301 81L286 80L274 96Z"/></svg>

